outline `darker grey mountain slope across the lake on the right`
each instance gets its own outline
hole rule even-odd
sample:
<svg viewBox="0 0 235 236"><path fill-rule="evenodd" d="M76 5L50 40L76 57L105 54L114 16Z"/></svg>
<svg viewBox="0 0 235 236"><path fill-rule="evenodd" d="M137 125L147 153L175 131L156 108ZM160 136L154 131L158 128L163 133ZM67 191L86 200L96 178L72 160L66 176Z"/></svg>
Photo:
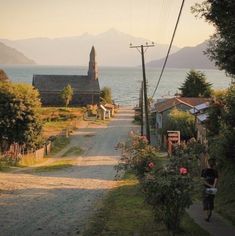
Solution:
<svg viewBox="0 0 235 236"><path fill-rule="evenodd" d="M195 47L184 47L169 56L166 66L168 68L189 69L216 69L213 62L203 53L208 41L204 41ZM165 58L153 60L146 64L148 67L162 67Z"/></svg>

